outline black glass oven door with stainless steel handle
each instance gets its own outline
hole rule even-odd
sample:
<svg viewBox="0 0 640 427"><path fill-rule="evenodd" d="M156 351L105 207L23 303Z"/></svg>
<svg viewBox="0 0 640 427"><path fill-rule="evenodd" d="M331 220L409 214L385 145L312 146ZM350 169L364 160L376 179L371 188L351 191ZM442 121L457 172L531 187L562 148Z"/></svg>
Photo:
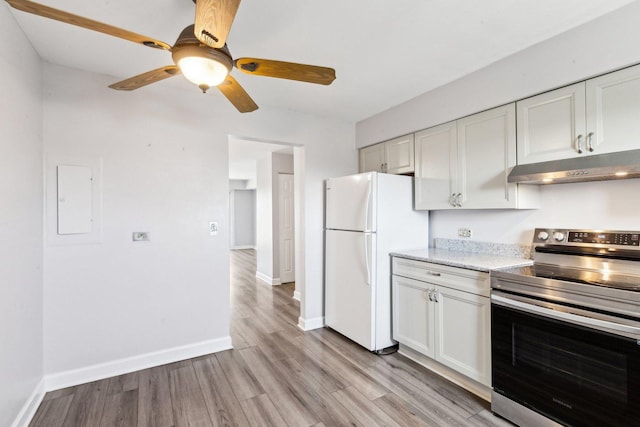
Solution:
<svg viewBox="0 0 640 427"><path fill-rule="evenodd" d="M494 393L566 425L640 425L640 323L492 291Z"/></svg>

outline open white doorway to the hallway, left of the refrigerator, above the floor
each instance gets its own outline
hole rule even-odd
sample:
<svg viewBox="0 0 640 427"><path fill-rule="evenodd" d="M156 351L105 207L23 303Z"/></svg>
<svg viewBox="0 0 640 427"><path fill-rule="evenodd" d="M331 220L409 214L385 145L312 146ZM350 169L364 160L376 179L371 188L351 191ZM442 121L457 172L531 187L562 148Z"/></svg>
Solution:
<svg viewBox="0 0 640 427"><path fill-rule="evenodd" d="M255 248L256 278L269 286L294 283L293 297L301 299L304 272L302 186L296 185L304 168L304 147L254 138L229 137L229 217L230 234L236 218L250 217L238 212L237 196L242 191L255 194L255 240L238 245ZM234 249L230 237L230 248ZM296 268L298 267L298 268Z"/></svg>

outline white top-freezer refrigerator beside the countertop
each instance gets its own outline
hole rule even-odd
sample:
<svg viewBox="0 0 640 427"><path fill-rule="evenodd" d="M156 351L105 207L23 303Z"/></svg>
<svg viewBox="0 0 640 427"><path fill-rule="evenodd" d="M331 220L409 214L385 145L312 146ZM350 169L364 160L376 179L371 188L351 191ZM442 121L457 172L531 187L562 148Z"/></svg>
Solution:
<svg viewBox="0 0 640 427"><path fill-rule="evenodd" d="M428 246L413 178L377 172L326 180L325 324L370 351L391 338L389 253Z"/></svg>

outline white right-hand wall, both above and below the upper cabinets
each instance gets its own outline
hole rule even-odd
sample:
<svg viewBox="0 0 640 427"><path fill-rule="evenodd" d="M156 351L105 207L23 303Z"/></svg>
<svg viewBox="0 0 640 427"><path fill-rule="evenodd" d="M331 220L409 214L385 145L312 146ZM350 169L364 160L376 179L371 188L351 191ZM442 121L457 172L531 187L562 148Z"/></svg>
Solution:
<svg viewBox="0 0 640 427"><path fill-rule="evenodd" d="M640 2L496 62L356 125L359 147L454 120L567 83L640 62ZM640 141L638 141L640 148ZM430 237L530 244L534 227L640 229L640 180L541 188L541 209L446 210L430 216ZM425 242L426 243L426 242ZM431 242L432 243L432 242Z"/></svg>

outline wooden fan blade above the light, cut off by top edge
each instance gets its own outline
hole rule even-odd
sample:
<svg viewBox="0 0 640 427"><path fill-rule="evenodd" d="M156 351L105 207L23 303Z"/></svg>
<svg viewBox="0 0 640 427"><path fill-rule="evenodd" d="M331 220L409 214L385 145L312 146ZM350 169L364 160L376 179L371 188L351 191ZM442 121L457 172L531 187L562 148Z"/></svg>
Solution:
<svg viewBox="0 0 640 427"><path fill-rule="evenodd" d="M195 36L201 43L221 48L227 42L240 0L196 0Z"/></svg>

